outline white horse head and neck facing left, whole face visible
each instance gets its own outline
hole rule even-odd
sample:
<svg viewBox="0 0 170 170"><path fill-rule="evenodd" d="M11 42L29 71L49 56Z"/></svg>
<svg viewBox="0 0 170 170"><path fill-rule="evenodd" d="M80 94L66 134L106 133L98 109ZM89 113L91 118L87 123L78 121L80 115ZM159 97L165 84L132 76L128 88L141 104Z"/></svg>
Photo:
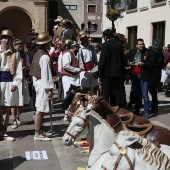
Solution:
<svg viewBox="0 0 170 170"><path fill-rule="evenodd" d="M87 170L100 169L106 153L112 146L116 133L98 113L91 109L82 110L75 115L62 140L71 145L80 135L87 134L90 143L90 157Z"/></svg>

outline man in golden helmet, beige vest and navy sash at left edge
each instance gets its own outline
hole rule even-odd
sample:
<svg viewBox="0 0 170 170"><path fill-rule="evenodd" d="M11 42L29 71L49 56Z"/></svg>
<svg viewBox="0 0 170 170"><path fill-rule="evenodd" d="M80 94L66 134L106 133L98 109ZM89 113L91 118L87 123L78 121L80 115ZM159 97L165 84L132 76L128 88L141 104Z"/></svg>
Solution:
<svg viewBox="0 0 170 170"><path fill-rule="evenodd" d="M18 84L22 81L22 64L20 55L11 48L12 32L1 32L0 46L0 107L3 109L4 120L0 114L0 138L13 141L13 137L6 134L9 122L10 108L17 106ZM1 124L2 123L2 124Z"/></svg>

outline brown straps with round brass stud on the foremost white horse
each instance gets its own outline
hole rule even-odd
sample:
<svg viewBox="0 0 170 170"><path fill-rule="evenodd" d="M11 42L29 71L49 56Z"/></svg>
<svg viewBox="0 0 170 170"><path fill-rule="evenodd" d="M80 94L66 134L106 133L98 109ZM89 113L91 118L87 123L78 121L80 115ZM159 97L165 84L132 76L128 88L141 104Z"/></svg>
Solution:
<svg viewBox="0 0 170 170"><path fill-rule="evenodd" d="M133 164L129 158L129 156L127 155L127 148L128 146L125 146L125 148L121 147L117 142L114 142L114 144L116 145L116 147L120 150L120 154L116 160L116 163L115 163L115 167L113 168L113 170L116 170L118 168L118 165L122 159L122 157L124 156L126 158L126 160L128 161L129 163L129 166L131 168L131 170L134 170L134 167L133 167ZM108 170L106 167L104 167L103 165L101 166L101 168L103 168L104 170Z"/></svg>

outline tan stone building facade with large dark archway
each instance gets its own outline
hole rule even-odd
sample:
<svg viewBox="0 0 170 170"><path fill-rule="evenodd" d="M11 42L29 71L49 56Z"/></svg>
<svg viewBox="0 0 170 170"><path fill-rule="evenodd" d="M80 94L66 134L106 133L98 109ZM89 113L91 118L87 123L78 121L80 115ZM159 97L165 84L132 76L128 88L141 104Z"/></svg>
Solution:
<svg viewBox="0 0 170 170"><path fill-rule="evenodd" d="M47 31L47 0L0 0L0 4L0 31L8 28L23 41L31 31Z"/></svg>

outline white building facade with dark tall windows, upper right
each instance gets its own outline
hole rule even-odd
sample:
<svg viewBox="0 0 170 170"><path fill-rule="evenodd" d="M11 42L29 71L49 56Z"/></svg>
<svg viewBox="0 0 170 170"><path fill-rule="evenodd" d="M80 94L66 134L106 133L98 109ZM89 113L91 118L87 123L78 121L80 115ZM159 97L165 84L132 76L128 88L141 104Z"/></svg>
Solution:
<svg viewBox="0 0 170 170"><path fill-rule="evenodd" d="M111 21L105 17L105 2L103 30L111 28ZM124 1L121 0L121 3ZM116 32L126 36L130 48L135 47L136 38L143 38L146 47L152 44L153 39L159 39L162 46L170 44L170 1L128 0L126 7L121 7L121 17L115 21Z"/></svg>

